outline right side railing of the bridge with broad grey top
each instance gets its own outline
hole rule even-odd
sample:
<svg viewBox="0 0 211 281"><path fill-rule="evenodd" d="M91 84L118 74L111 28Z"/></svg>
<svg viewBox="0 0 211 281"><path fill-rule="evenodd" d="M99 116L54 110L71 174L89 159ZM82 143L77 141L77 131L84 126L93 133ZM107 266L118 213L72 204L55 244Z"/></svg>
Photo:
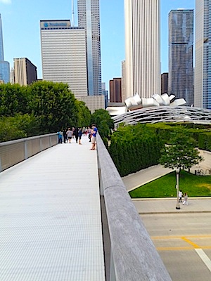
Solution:
<svg viewBox="0 0 211 281"><path fill-rule="evenodd" d="M170 281L172 280L120 178L108 150L97 136L97 154L103 218L106 280ZM102 207L103 209L103 207ZM110 242L106 241L110 237Z"/></svg>

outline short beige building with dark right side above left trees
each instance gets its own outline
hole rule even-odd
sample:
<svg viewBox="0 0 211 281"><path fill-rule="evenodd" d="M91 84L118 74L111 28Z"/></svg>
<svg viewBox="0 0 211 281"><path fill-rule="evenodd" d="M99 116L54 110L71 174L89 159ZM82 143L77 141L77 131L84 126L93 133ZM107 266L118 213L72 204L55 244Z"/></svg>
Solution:
<svg viewBox="0 0 211 281"><path fill-rule="evenodd" d="M14 83L26 86L37 81L37 67L27 58L14 58Z"/></svg>

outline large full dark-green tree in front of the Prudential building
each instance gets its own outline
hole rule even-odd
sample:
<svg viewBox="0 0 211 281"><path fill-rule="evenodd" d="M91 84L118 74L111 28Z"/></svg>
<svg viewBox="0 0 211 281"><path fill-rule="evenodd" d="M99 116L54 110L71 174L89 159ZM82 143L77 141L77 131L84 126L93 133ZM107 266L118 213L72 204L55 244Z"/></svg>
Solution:
<svg viewBox="0 0 211 281"><path fill-rule="evenodd" d="M68 84L37 81L30 85L30 110L43 133L77 124L79 110Z"/></svg>

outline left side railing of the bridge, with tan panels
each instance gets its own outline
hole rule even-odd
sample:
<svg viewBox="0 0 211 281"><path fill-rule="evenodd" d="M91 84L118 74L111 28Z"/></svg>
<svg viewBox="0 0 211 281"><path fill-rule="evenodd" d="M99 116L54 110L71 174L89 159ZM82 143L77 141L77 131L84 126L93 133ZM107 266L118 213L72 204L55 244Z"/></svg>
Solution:
<svg viewBox="0 0 211 281"><path fill-rule="evenodd" d="M57 143L56 133L0 143L0 172Z"/></svg>

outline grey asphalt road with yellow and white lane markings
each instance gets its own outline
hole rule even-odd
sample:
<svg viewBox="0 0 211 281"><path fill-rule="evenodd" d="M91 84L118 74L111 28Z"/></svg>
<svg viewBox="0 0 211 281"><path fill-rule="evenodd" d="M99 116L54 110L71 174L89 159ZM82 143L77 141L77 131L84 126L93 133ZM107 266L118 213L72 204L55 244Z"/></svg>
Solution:
<svg viewBox="0 0 211 281"><path fill-rule="evenodd" d="M173 281L211 280L211 213L141 214Z"/></svg>

